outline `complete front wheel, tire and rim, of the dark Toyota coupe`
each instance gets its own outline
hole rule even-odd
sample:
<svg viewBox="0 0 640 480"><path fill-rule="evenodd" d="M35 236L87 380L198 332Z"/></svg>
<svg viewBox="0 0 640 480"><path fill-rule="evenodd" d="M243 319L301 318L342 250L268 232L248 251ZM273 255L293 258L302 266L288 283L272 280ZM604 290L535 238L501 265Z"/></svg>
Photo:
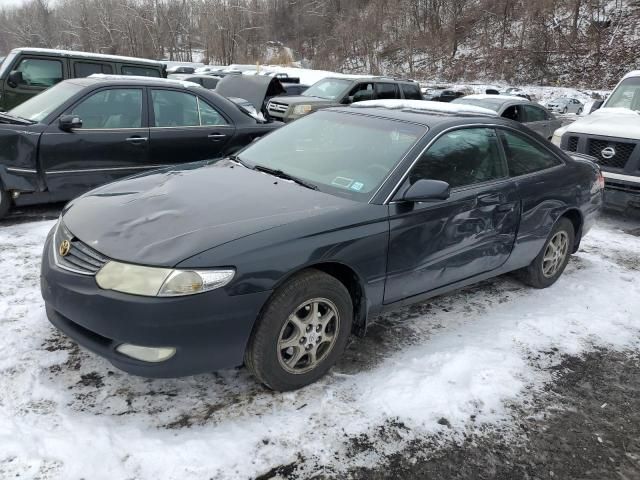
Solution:
<svg viewBox="0 0 640 480"><path fill-rule="evenodd" d="M315 269L278 288L245 352L245 365L272 390L296 390L323 377L344 351L353 321L346 287Z"/></svg>

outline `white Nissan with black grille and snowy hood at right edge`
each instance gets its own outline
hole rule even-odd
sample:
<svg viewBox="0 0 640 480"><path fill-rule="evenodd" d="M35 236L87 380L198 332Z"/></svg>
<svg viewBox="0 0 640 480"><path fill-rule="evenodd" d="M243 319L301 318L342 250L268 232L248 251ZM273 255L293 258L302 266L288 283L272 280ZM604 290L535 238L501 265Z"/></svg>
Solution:
<svg viewBox="0 0 640 480"><path fill-rule="evenodd" d="M597 159L609 207L640 208L640 70L625 75L599 110L556 130L552 141Z"/></svg>

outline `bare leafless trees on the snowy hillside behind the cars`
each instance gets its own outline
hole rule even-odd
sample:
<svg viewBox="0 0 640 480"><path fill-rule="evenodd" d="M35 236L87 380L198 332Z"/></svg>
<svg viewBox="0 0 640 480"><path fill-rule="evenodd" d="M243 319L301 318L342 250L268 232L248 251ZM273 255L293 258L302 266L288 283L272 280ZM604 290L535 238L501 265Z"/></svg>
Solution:
<svg viewBox="0 0 640 480"><path fill-rule="evenodd" d="M16 46L605 88L637 67L640 2L29 0L0 10Z"/></svg>

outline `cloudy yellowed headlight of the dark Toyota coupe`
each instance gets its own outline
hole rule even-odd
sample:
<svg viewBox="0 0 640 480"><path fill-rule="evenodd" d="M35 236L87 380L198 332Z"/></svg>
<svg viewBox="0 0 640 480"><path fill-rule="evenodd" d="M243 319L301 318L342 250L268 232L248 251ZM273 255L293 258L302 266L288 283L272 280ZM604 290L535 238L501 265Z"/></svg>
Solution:
<svg viewBox="0 0 640 480"><path fill-rule="evenodd" d="M132 295L177 297L224 287L235 273L232 269L178 270L109 261L96 274L96 283L105 290Z"/></svg>

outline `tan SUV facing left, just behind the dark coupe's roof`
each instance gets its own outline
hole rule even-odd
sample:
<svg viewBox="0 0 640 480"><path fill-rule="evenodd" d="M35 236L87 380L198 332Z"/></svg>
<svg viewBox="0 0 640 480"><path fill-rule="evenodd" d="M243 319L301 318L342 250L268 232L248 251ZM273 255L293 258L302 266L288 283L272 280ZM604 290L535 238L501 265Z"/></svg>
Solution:
<svg viewBox="0 0 640 480"><path fill-rule="evenodd" d="M278 97L267 105L269 115L290 122L315 110L363 100L423 100L420 85L385 77L323 78L298 96Z"/></svg>

